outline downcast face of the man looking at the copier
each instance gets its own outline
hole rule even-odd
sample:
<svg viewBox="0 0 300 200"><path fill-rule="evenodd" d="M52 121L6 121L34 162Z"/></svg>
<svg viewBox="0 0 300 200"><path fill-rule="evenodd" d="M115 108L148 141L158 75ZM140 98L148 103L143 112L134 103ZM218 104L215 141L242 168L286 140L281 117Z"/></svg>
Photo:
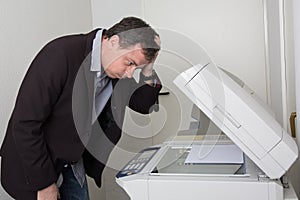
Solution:
<svg viewBox="0 0 300 200"><path fill-rule="evenodd" d="M148 61L145 59L140 45L121 48L118 38L103 41L102 65L110 78L132 78L138 68L143 68Z"/></svg>

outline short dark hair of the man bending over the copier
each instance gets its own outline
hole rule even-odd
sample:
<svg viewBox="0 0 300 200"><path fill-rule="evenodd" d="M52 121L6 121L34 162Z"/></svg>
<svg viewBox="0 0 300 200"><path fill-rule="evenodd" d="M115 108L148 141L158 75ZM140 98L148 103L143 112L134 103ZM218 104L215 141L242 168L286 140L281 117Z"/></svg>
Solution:
<svg viewBox="0 0 300 200"><path fill-rule="evenodd" d="M106 30L104 34L108 39L113 35L118 35L121 48L129 48L140 44L145 59L149 62L154 59L160 50L159 44L155 42L155 37L159 37L159 35L149 24L136 17L123 18L119 23Z"/></svg>

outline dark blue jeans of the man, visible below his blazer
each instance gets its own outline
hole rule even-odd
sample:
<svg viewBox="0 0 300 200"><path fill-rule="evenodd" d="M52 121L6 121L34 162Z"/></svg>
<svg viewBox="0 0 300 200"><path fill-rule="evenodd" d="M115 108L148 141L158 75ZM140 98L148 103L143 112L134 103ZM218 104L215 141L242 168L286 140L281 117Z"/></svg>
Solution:
<svg viewBox="0 0 300 200"><path fill-rule="evenodd" d="M61 200L89 200L87 181L84 181L83 187L80 186L74 176L71 166L64 167L62 171L63 182L59 187Z"/></svg>

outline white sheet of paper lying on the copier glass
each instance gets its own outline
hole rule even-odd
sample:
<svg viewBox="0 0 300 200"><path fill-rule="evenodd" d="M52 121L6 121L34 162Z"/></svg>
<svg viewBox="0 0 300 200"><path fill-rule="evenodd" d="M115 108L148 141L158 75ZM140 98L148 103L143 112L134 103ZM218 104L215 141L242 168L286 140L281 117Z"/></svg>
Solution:
<svg viewBox="0 0 300 200"><path fill-rule="evenodd" d="M244 154L236 145L193 145L185 164L243 164Z"/></svg>

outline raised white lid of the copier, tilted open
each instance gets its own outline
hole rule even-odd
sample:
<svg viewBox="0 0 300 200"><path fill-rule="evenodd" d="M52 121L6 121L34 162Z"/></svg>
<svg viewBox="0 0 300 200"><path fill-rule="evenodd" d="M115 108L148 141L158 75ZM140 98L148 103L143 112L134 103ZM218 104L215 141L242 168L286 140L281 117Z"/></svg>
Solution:
<svg viewBox="0 0 300 200"><path fill-rule="evenodd" d="M294 139L214 64L195 65L174 83L270 178L280 178L295 162Z"/></svg>

